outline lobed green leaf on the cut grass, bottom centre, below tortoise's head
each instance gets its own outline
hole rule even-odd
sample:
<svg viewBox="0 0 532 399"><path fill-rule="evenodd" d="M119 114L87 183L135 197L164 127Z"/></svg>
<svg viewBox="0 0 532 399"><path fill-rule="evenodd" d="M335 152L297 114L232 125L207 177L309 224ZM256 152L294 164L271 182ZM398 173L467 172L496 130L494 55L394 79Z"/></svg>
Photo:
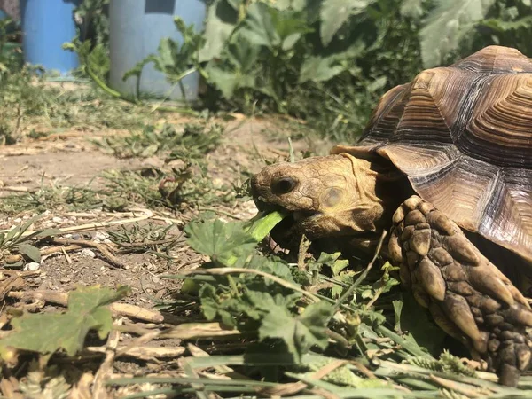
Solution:
<svg viewBox="0 0 532 399"><path fill-rule="evenodd" d="M331 315L332 306L324 301L309 305L299 317L293 317L286 308L272 307L262 319L259 338L283 340L299 363L310 348L327 348L327 323Z"/></svg>

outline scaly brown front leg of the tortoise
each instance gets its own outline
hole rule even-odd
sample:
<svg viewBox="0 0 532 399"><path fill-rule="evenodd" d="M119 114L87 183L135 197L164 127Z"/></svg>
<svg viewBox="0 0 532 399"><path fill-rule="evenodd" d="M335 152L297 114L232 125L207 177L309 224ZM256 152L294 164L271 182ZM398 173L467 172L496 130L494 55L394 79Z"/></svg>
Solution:
<svg viewBox="0 0 532 399"><path fill-rule="evenodd" d="M516 386L532 355L532 310L519 290L442 212L412 196L393 217L389 252L403 285L445 332Z"/></svg>

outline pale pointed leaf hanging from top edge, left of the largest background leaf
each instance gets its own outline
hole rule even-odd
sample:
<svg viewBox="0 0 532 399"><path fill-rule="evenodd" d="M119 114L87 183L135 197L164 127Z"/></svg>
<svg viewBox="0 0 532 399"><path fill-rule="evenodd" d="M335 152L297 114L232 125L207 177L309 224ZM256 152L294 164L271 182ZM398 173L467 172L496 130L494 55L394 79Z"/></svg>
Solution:
<svg viewBox="0 0 532 399"><path fill-rule="evenodd" d="M321 5L320 37L326 46L351 15L364 12L372 0L324 0Z"/></svg>

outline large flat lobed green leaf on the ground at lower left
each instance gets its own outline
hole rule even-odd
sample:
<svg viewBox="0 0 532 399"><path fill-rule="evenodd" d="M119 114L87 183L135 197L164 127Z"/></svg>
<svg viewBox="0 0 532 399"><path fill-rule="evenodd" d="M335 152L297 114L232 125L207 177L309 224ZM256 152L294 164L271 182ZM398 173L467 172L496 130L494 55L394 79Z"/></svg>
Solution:
<svg viewBox="0 0 532 399"><path fill-rule="evenodd" d="M82 347L90 330L97 330L100 339L111 331L113 317L107 305L129 292L99 286L82 287L68 295L64 313L25 314L12 320L12 332L0 340L0 347L13 347L43 354L65 349L74 356Z"/></svg>

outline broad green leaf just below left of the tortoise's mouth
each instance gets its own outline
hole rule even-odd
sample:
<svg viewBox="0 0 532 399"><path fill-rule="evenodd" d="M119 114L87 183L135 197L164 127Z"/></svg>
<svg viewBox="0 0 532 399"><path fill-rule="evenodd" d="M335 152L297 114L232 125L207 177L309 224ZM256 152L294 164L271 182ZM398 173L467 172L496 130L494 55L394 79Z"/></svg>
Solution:
<svg viewBox="0 0 532 399"><path fill-rule="evenodd" d="M243 223L238 222L223 223L219 219L192 222L184 231L189 235L187 242L192 249L225 266L243 264L257 245L257 241L245 231Z"/></svg>

